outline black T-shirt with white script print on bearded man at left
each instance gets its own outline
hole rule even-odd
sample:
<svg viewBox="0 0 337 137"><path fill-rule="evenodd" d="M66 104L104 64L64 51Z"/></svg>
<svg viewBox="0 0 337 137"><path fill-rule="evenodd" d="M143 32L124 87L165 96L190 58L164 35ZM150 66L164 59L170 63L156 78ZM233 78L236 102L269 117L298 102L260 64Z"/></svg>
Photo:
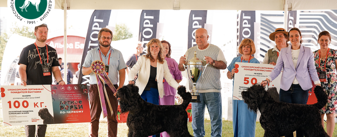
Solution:
<svg viewBox="0 0 337 137"><path fill-rule="evenodd" d="M48 46L48 45L47 45ZM42 64L48 64L50 76L43 76L42 64L40 63L39 53L36 50L35 44L31 44L22 49L18 64L27 65L27 85L51 85L52 83L52 66L59 66L56 50L48 46L49 63L47 63L46 46L38 47Z"/></svg>

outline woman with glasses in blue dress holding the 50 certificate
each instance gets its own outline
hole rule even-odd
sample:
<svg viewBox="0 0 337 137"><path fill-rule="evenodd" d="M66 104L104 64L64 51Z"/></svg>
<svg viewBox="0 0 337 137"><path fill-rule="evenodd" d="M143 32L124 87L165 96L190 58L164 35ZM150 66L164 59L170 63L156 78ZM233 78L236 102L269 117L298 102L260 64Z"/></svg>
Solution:
<svg viewBox="0 0 337 137"><path fill-rule="evenodd" d="M255 53L255 45L253 40L244 39L239 46L239 53L242 56L233 58L231 64L227 67L228 79L233 79L236 71L235 62L259 63L252 56ZM247 104L243 100L233 100L233 132L234 137L251 137L255 136L256 113L248 110Z"/></svg>

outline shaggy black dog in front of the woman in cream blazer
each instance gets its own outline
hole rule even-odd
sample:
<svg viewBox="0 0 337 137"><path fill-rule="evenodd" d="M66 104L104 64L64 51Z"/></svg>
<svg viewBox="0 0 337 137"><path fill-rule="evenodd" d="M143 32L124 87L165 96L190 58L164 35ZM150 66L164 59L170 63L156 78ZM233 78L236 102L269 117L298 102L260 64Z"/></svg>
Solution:
<svg viewBox="0 0 337 137"><path fill-rule="evenodd" d="M178 94L184 100L180 105L160 106L146 102L138 93L139 88L127 85L117 92L121 113L129 112L126 124L127 136L149 136L166 131L170 136L192 136L187 129L186 108L192 98L186 88L178 87Z"/></svg>

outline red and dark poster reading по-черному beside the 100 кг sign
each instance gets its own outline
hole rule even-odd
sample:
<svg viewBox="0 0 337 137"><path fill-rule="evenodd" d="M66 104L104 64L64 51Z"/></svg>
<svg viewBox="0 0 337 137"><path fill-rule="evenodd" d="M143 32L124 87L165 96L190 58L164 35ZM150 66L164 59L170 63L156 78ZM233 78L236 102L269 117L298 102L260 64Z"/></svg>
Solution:
<svg viewBox="0 0 337 137"><path fill-rule="evenodd" d="M90 122L90 108L87 85L50 85L54 122Z"/></svg>

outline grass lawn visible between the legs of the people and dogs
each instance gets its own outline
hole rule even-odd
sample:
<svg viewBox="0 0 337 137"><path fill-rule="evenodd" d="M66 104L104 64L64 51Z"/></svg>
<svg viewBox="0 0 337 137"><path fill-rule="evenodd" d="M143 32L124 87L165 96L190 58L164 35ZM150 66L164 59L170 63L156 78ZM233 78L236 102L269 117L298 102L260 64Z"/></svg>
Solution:
<svg viewBox="0 0 337 137"><path fill-rule="evenodd" d="M1 104L1 100L0 100ZM24 126L3 126L2 105L0 105L0 136L25 136ZM232 121L223 120L222 136L233 136ZM127 136L126 123L118 124L117 136ZM188 122L188 130L193 134L191 123ZM206 136L211 136L211 122L205 119ZM263 136L264 130L259 122L256 122L255 136ZM335 128L333 136L337 135ZM46 136L88 136L88 123L72 123L72 124L50 124L47 127ZM107 123L100 122L99 136L107 136Z"/></svg>

